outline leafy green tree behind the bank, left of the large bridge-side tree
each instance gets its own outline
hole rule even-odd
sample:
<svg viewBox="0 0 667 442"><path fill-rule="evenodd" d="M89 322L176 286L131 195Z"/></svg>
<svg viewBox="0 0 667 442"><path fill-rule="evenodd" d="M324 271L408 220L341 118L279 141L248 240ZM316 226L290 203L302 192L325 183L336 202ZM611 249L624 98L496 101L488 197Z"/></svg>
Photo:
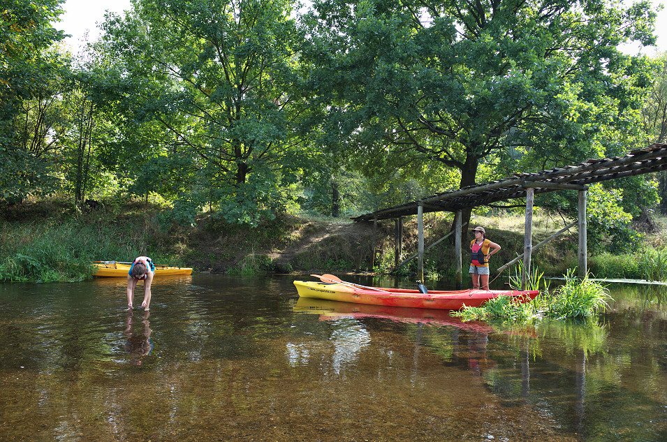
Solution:
<svg viewBox="0 0 667 442"><path fill-rule="evenodd" d="M300 35L291 2L133 4L126 17L108 17L104 50L123 79L127 117L172 138L151 138L137 152L189 157L196 174L182 202L208 202L228 221L257 223L280 203L292 165Z"/></svg>

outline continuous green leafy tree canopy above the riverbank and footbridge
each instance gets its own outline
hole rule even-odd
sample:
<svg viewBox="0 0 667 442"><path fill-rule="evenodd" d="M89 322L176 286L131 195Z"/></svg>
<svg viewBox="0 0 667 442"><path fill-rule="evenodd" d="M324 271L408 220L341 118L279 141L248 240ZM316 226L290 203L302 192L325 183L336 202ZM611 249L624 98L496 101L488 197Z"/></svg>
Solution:
<svg viewBox="0 0 667 442"><path fill-rule="evenodd" d="M60 4L0 8L2 202L351 216L661 133L664 63L617 49L654 43L648 1L133 0L78 62L57 46ZM605 186L601 230L654 204L643 177Z"/></svg>

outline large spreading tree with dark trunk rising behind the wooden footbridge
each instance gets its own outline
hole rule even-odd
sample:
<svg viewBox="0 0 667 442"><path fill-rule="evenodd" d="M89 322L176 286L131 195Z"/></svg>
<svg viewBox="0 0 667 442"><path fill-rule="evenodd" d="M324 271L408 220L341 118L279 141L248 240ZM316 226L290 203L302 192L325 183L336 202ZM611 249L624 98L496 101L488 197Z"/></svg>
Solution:
<svg viewBox="0 0 667 442"><path fill-rule="evenodd" d="M483 161L550 168L618 149L654 41L647 2L315 1L303 20L310 85L368 172L438 162L478 181ZM375 163L386 164L376 170ZM506 172L506 170L503 170ZM470 212L464 212L468 221Z"/></svg>

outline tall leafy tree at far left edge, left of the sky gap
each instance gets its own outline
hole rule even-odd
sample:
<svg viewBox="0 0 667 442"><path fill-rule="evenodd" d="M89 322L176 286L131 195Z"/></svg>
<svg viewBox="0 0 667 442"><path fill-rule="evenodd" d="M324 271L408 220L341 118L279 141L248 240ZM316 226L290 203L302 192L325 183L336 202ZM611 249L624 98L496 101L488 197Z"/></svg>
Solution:
<svg viewBox="0 0 667 442"><path fill-rule="evenodd" d="M42 154L54 78L66 60L49 51L64 37L52 27L62 0L6 0L0 7L0 201L54 186ZM56 88L57 89L57 88Z"/></svg>

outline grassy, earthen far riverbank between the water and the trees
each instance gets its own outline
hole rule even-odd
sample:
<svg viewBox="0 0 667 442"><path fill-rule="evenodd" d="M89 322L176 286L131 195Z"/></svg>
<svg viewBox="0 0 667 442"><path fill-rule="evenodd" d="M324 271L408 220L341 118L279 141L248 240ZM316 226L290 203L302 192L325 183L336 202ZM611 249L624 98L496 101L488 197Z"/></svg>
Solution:
<svg viewBox="0 0 667 442"><path fill-rule="evenodd" d="M58 200L13 207L0 221L0 276L4 281L81 280L90 277L87 266L92 260L128 261L139 255L219 274L416 274L416 260L394 268L393 221L379 223L372 253L372 223L281 214L249 228L203 215L192 226L177 226L164 223L161 211L144 202L90 204L83 210ZM488 237L502 246L492 258L492 270L522 253L523 221L511 214L471 220L475 226L485 226ZM426 244L446 235L451 222L450 214L427 214ZM562 228L562 223L556 217L536 217L534 244ZM648 237L650 243L645 240L645 247L636 253L589 256L589 270L598 278L664 280L647 278L643 268L650 259L665 267L664 227ZM402 258L415 253L416 246L416 220L406 219ZM536 252L533 263L545 276L560 277L576 266L576 249L577 232L572 229ZM453 256L449 240L427 251L426 278L453 277Z"/></svg>

